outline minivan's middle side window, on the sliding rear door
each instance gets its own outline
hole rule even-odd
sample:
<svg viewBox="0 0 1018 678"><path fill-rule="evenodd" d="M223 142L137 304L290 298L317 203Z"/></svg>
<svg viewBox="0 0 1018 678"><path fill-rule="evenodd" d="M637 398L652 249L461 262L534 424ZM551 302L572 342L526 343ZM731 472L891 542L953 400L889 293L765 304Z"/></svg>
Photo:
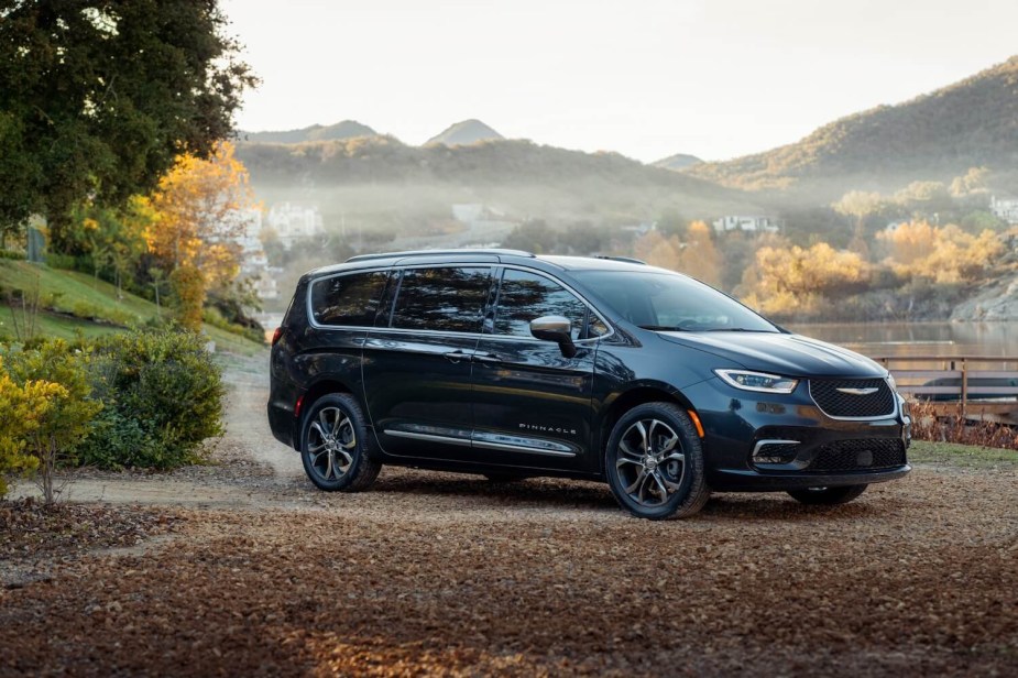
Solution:
<svg viewBox="0 0 1018 678"><path fill-rule="evenodd" d="M447 332L481 331L491 269L407 269L393 309L392 326Z"/></svg>

